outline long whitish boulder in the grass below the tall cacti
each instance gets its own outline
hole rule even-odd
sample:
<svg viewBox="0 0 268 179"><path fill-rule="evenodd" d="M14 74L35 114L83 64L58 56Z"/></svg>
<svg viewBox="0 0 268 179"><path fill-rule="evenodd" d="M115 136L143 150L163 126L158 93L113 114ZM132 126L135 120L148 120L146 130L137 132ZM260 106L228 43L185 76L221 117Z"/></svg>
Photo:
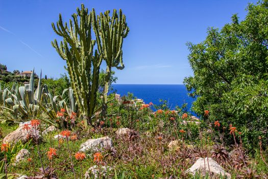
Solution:
<svg viewBox="0 0 268 179"><path fill-rule="evenodd" d="M103 137L98 139L89 139L80 146L80 151L88 152L88 151L102 151L103 148L112 147L112 139L109 137Z"/></svg>

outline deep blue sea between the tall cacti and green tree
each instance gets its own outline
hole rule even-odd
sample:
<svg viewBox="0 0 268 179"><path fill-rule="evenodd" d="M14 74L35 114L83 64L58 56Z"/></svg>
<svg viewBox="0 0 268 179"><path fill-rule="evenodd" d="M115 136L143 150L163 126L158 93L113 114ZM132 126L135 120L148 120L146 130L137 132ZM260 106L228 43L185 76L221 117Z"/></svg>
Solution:
<svg viewBox="0 0 268 179"><path fill-rule="evenodd" d="M128 92L133 93L135 97L143 99L147 104L153 102L158 105L159 99L167 100L170 109L187 103L187 110L190 112L194 101L187 96L183 84L113 84L113 88L121 96L127 95Z"/></svg>

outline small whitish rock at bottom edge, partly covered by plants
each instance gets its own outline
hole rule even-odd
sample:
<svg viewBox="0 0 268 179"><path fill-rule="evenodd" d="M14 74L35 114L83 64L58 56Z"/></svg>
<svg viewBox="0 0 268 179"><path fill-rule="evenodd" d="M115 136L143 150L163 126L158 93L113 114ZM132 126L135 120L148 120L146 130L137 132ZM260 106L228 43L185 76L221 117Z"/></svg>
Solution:
<svg viewBox="0 0 268 179"><path fill-rule="evenodd" d="M94 165L93 167L90 167L86 173L85 173L85 179L89 178L99 178L99 176L104 176L107 178L106 174L107 171L111 171L111 167L101 166L100 168L97 165ZM100 171L99 171L100 170ZM99 174L100 173L100 174Z"/></svg>

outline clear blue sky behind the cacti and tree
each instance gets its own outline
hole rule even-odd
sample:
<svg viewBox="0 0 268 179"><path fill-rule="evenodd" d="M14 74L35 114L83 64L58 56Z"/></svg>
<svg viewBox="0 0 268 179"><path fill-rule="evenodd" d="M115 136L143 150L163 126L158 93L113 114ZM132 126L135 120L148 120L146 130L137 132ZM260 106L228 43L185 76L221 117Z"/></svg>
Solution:
<svg viewBox="0 0 268 179"><path fill-rule="evenodd" d="M254 0L0 0L0 63L9 71L42 69L48 77L65 73L51 46L58 38L51 23L61 13L68 20L84 3L96 12L119 9L127 16L130 33L123 45L125 69L116 70L120 84L182 84L192 74L187 41L201 42L208 27L221 28ZM104 66L104 65L103 65Z"/></svg>

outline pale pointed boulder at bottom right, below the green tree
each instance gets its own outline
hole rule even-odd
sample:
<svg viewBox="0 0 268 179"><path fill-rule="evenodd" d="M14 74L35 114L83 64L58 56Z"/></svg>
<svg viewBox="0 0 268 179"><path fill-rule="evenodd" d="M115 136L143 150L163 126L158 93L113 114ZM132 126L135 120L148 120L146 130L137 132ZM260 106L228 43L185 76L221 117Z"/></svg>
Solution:
<svg viewBox="0 0 268 179"><path fill-rule="evenodd" d="M200 158L191 166L191 168L187 170L187 172L192 175L195 175L196 172L200 172L202 175L205 175L206 173L209 173L209 171L212 178L218 178L220 175L226 175L227 178L231 178L231 175L225 172L224 169L211 158Z"/></svg>

